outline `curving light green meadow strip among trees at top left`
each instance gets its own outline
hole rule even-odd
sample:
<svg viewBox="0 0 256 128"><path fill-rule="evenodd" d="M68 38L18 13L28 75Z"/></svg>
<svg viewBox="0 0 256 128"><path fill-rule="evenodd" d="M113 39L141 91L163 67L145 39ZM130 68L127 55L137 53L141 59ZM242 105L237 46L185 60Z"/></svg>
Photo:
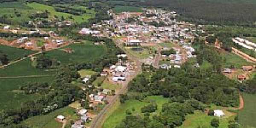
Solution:
<svg viewBox="0 0 256 128"><path fill-rule="evenodd" d="M50 12L51 16L54 16L54 15L56 15L58 17L63 16L64 18L68 18L68 17L72 16L74 21L76 21L78 23L86 21L87 19L92 18L92 17L95 16L95 12L93 10L86 10L87 11L86 14L81 15L81 16L80 15L77 16L77 15L72 15L72 14L69 14L69 13L56 12L55 9L52 6L47 6L47 5L40 4L40 3L29 3L27 6L32 8L32 9L40 10L40 11L48 10L48 12ZM80 6L80 8L82 8L82 7ZM84 8L84 9L86 9L86 8Z"/></svg>

